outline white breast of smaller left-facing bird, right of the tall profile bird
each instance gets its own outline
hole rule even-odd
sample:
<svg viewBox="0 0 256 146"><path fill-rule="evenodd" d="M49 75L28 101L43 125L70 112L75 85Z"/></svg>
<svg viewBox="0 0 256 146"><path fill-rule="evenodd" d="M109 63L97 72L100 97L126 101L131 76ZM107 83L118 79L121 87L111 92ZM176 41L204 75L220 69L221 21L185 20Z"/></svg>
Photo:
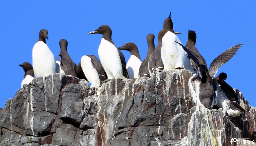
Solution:
<svg viewBox="0 0 256 146"><path fill-rule="evenodd" d="M130 59L126 64L126 69L130 79L139 77L139 69L140 69L141 63L142 62L138 57L131 55Z"/></svg>

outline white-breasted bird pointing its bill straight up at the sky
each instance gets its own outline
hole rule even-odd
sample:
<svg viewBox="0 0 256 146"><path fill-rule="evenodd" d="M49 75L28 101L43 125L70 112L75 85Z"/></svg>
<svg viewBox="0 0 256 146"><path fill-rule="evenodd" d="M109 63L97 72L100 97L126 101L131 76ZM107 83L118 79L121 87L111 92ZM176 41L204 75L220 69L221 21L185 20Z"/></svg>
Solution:
<svg viewBox="0 0 256 146"><path fill-rule="evenodd" d="M162 38L161 58L165 70L182 69L185 61L185 51L176 42L181 43L173 31L171 13L164 21L164 32ZM182 43L181 43L182 44Z"/></svg>

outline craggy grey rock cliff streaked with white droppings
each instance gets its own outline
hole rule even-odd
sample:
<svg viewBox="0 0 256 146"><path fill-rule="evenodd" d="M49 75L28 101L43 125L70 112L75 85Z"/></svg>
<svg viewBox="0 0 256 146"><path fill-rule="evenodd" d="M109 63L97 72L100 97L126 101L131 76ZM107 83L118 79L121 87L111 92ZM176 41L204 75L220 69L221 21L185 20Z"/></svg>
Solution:
<svg viewBox="0 0 256 146"><path fill-rule="evenodd" d="M55 74L35 78L0 111L0 145L230 145L255 139L255 107L235 89L244 115L195 106L188 70L112 79L91 88ZM246 141L246 140L244 140ZM246 141L248 145L255 145ZM232 143L236 145L236 143Z"/></svg>

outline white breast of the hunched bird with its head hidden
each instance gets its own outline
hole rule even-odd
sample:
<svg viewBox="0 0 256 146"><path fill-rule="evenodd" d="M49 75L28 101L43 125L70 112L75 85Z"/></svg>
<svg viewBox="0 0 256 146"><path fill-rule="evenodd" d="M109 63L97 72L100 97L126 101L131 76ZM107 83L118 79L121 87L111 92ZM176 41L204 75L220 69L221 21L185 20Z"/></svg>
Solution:
<svg viewBox="0 0 256 146"><path fill-rule="evenodd" d="M100 78L97 70L92 66L91 58L88 56L83 56L81 58L81 67L85 74L85 77L91 83L92 87L99 87Z"/></svg>

